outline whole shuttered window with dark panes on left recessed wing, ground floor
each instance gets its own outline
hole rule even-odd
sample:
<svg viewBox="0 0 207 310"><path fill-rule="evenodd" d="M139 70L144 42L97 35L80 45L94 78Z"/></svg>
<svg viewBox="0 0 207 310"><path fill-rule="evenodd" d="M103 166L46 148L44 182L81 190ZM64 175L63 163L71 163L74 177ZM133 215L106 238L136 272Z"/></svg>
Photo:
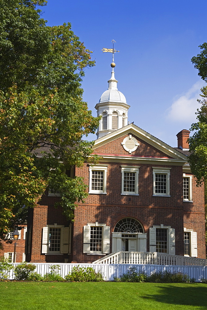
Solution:
<svg viewBox="0 0 207 310"><path fill-rule="evenodd" d="M69 252L70 227L47 225L42 230L42 253L61 255Z"/></svg>

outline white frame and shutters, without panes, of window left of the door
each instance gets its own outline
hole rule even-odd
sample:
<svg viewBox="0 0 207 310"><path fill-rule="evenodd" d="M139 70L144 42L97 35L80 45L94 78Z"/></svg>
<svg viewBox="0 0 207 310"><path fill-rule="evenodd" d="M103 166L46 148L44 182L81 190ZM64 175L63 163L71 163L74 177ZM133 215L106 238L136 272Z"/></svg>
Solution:
<svg viewBox="0 0 207 310"><path fill-rule="evenodd" d="M90 227L91 226L92 227L103 227L102 229L102 251L91 251L90 250ZM88 232L87 240L85 236L85 233L87 233L86 229ZM104 236L105 235L104 230L108 230L108 232L106 232L108 234L107 238L106 236ZM103 249L104 246L105 246L105 251ZM109 226L106 226L106 224L99 224L99 222L95 222L95 223L88 223L86 226L83 227L83 253L86 253L87 255L106 255L106 254L109 254L109 250L110 250L110 227Z"/></svg>

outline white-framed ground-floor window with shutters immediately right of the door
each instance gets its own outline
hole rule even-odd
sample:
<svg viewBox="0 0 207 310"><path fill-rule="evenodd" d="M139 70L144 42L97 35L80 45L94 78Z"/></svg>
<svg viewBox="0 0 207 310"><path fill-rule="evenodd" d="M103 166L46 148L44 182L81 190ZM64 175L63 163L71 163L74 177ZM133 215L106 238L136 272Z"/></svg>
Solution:
<svg viewBox="0 0 207 310"><path fill-rule="evenodd" d="M153 225L149 229L149 251L175 255L175 230L171 226Z"/></svg>

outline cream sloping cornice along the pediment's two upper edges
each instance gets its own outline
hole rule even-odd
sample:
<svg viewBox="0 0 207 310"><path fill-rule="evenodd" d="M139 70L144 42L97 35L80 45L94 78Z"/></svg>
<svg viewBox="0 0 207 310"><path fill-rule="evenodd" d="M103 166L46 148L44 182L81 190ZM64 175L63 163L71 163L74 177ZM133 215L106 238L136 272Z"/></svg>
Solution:
<svg viewBox="0 0 207 310"><path fill-rule="evenodd" d="M143 129L135 126L134 124L129 124L125 127L122 127L118 129L117 131L114 131L112 133L109 133L108 135L105 135L97 140L95 140L95 144L93 149L99 148L100 146L107 144L123 135L127 134L134 134L138 138L142 139L143 141L147 142L148 144L151 144L155 148L159 149L161 152L167 154L170 157L173 157L178 160L184 160L187 162L187 156L184 154L178 152L168 144L165 144L161 140L157 139L156 137L150 135L148 132L144 131Z"/></svg>

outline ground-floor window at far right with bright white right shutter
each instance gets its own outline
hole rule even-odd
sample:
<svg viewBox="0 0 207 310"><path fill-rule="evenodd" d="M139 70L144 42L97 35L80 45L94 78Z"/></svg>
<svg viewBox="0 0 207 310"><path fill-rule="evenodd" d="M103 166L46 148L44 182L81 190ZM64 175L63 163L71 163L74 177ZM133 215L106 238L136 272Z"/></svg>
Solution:
<svg viewBox="0 0 207 310"><path fill-rule="evenodd" d="M184 256L197 257L197 232L184 228Z"/></svg>

